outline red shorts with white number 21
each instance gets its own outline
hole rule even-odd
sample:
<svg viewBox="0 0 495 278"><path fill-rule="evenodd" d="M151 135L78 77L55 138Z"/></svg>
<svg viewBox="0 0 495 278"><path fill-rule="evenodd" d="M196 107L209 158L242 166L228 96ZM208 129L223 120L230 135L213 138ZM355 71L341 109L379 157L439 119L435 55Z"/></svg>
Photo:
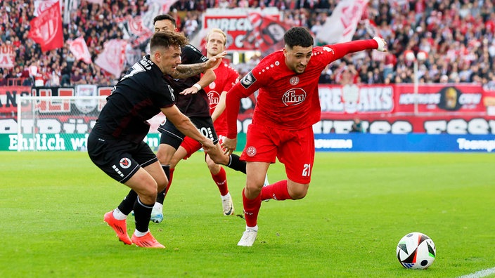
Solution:
<svg viewBox="0 0 495 278"><path fill-rule="evenodd" d="M314 163L313 127L288 131L250 124L240 159L275 163L276 158L285 164L287 178L296 183L309 183Z"/></svg>

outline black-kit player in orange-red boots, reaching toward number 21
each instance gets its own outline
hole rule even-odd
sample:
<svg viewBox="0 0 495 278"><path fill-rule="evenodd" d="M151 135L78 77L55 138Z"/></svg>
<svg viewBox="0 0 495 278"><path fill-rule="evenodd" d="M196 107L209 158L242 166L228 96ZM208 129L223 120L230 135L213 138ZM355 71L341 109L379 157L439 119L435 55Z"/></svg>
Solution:
<svg viewBox="0 0 495 278"><path fill-rule="evenodd" d="M157 192L168 183L155 153L143 142L150 127L148 119L162 112L181 133L198 140L205 150L216 147L174 105L174 92L164 78L164 74L178 70L181 47L185 44L186 37L175 32L154 34L150 55L136 62L115 85L89 134L91 161L131 188L117 209L105 213L103 218L124 244L165 248L148 230ZM212 61L212 65L215 63ZM197 72L193 67L186 67L184 72ZM136 230L129 238L126 219L133 209Z"/></svg>

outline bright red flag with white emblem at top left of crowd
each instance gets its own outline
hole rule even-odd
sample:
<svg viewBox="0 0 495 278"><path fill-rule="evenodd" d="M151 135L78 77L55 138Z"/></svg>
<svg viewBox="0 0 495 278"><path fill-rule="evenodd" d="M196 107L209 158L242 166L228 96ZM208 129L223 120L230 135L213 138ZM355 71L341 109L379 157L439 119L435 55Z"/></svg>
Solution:
<svg viewBox="0 0 495 278"><path fill-rule="evenodd" d="M39 13L37 18L30 22L31 29L28 37L41 46L41 51L51 51L63 46L62 15L60 2Z"/></svg>

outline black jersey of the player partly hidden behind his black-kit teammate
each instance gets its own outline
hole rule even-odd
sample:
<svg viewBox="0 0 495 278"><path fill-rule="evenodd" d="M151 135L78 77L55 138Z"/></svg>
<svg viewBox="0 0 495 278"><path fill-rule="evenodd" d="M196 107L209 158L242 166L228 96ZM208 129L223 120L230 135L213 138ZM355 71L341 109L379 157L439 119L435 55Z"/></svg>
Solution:
<svg viewBox="0 0 495 278"><path fill-rule="evenodd" d="M208 60L205 55L201 54L201 51L199 51L198 48L191 46L191 44L187 44L182 48L181 59L182 64L184 65L198 64ZM198 93L179 95L181 91L184 91L186 88L191 88L195 83L198 83L200 78L201 74L186 79L173 79L172 77L167 77L170 85L174 88L177 107L179 107L179 110L188 117L210 117L210 104L205 90L201 89Z"/></svg>

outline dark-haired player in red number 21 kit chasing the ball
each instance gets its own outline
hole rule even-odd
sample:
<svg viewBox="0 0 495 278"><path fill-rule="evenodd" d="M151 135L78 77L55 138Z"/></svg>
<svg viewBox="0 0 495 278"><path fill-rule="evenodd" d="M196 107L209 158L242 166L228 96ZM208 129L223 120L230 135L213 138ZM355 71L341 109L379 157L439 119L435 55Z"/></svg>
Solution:
<svg viewBox="0 0 495 278"><path fill-rule="evenodd" d="M252 124L240 158L247 161L243 206L246 230L238 246L252 246L262 200L302 199L307 194L314 162L313 124L321 118L318 80L325 67L348 53L386 51L378 37L344 44L313 47L303 27L284 34L285 47L266 56L226 95L227 138L231 153L237 145L237 115L241 98L259 90ZM285 164L287 180L263 187L266 171L275 159Z"/></svg>

